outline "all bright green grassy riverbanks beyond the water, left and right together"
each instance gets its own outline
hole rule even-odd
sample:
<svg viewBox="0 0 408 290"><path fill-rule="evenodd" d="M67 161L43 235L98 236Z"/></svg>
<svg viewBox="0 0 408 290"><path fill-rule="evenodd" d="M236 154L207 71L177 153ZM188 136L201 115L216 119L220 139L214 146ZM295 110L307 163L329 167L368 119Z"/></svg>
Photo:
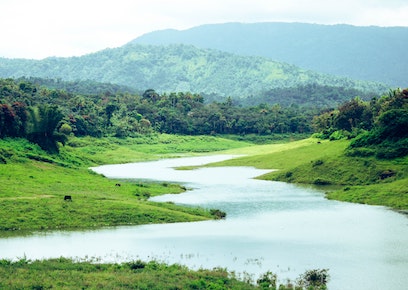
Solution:
<svg viewBox="0 0 408 290"><path fill-rule="evenodd" d="M0 212L0 236L211 219L203 209L147 201L154 195L184 191L179 185L109 180L88 170L100 164L210 152L247 155L218 166L278 169L259 177L264 180L336 185L340 189L328 192L328 198L408 210L408 158L349 157L348 144L310 138L254 145L212 136L160 134L72 138L59 155L50 155L24 139L2 139L0 206L7 210ZM66 195L72 202L64 201Z"/></svg>

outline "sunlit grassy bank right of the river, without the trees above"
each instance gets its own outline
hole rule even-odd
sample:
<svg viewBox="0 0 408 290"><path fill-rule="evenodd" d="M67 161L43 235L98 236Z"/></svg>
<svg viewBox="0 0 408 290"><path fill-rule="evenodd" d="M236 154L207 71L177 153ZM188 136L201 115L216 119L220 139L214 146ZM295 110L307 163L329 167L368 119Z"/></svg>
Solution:
<svg viewBox="0 0 408 290"><path fill-rule="evenodd" d="M349 141L305 139L228 151L250 154L214 166L255 166L277 171L260 176L264 180L315 185L336 185L327 197L341 201L384 205L408 210L408 157L379 160L345 154Z"/></svg>

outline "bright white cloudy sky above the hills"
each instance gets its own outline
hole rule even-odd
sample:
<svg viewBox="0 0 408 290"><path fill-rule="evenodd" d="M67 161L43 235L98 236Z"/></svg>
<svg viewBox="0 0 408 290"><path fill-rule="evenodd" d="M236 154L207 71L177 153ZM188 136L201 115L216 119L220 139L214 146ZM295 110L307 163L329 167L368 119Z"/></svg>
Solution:
<svg viewBox="0 0 408 290"><path fill-rule="evenodd" d="M79 56L227 22L408 27L407 0L0 0L0 57Z"/></svg>

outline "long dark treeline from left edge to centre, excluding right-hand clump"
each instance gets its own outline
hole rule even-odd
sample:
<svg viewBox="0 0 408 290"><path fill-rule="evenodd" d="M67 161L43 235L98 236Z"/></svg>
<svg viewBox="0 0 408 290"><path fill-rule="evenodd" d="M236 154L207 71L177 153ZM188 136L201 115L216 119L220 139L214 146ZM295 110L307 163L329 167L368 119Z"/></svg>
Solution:
<svg viewBox="0 0 408 290"><path fill-rule="evenodd" d="M294 106L239 107L231 98L205 104L201 95L181 92L76 94L12 79L0 80L0 104L1 137L30 134L40 120L56 125L60 133L62 130L66 134L95 137L126 137L150 132L190 135L305 133L312 132L311 120L315 114L311 109ZM54 114L60 117L58 124L55 120L44 121Z"/></svg>

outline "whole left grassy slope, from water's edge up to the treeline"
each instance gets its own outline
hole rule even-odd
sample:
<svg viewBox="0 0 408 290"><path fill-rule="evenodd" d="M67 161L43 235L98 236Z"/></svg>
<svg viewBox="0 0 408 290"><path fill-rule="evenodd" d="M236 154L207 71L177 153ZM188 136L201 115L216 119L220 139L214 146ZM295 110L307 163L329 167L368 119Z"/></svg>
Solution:
<svg viewBox="0 0 408 290"><path fill-rule="evenodd" d="M138 145L138 142L143 144ZM170 152L202 152L206 147L210 150L234 148L245 143L167 135L153 136L149 142L74 139L71 143L76 147L67 146L59 156L52 156L25 140L0 140L0 154L7 161L7 164L0 164L0 236L16 231L212 218L203 209L146 200L149 196L183 191L178 185L119 181L119 187L115 186L117 180L106 179L87 168L125 160L157 159ZM73 201L65 202L65 195L71 195Z"/></svg>

